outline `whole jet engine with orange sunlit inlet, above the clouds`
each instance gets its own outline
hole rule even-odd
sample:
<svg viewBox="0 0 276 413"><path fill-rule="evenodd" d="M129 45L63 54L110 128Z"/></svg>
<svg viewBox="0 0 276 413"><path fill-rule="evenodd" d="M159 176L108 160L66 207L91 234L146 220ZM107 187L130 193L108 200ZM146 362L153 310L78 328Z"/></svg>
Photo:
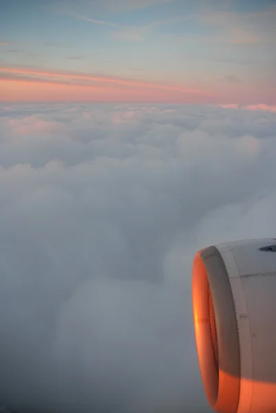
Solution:
<svg viewBox="0 0 276 413"><path fill-rule="evenodd" d="M213 410L276 412L276 239L198 251L192 295L200 372Z"/></svg>

